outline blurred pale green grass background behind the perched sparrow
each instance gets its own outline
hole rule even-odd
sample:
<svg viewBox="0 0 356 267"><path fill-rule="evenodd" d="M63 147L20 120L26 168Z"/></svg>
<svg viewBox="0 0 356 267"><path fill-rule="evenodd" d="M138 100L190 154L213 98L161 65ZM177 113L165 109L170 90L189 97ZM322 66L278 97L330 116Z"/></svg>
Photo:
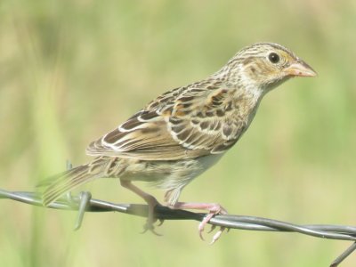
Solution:
<svg viewBox="0 0 356 267"><path fill-rule="evenodd" d="M257 41L284 44L319 72L263 100L239 144L182 193L232 214L355 224L354 1L0 2L0 187L32 190L66 159L179 85ZM110 186L111 185L111 186ZM95 198L139 202L114 180ZM154 191L161 196L162 193ZM347 242L231 231L213 247L195 222L138 232L123 214L76 214L1 202L4 266L327 266ZM206 237L209 238L209 237ZM343 266L353 266L352 255Z"/></svg>

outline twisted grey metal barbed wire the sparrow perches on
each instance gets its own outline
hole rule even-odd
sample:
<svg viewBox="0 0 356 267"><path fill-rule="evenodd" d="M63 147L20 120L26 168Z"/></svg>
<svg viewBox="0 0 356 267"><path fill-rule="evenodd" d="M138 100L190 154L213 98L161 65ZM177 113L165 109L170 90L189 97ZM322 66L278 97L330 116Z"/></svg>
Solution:
<svg viewBox="0 0 356 267"><path fill-rule="evenodd" d="M8 191L0 189L0 198L9 198L34 206L43 206L41 196L36 192ZM147 217L149 208L142 204L114 204L109 201L93 199L90 192L81 192L79 196L72 197L70 194L66 198L60 198L53 202L49 208L62 210L77 210L77 223L75 230L78 230L83 222L85 212L120 212ZM195 220L201 222L206 216L204 213L193 213L186 210L170 209L166 206L156 206L155 216L160 221L165 220ZM224 214L215 215L209 222L213 227L220 226L228 229L239 229L246 231L282 231L297 232L304 235L321 239L337 239L353 241L342 255L330 264L336 267L351 255L356 249L356 227L331 224L304 224L286 223L263 217Z"/></svg>

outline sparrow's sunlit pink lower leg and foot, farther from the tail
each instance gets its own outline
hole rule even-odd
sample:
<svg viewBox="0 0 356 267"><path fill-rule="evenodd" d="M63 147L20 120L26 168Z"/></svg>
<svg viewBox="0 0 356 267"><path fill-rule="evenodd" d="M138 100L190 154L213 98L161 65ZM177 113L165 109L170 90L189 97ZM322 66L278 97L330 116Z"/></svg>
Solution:
<svg viewBox="0 0 356 267"><path fill-rule="evenodd" d="M223 208L223 206L220 206L220 204L217 203L176 202L174 205L170 205L169 207L173 209L202 209L207 210L209 212L208 214L206 214L203 221L198 225L200 239L203 239L202 234L206 223L208 223L210 219L214 217L215 214L228 214L228 212ZM225 228L221 227L220 230L214 234L211 244L213 244L217 239L220 238L224 230Z"/></svg>

